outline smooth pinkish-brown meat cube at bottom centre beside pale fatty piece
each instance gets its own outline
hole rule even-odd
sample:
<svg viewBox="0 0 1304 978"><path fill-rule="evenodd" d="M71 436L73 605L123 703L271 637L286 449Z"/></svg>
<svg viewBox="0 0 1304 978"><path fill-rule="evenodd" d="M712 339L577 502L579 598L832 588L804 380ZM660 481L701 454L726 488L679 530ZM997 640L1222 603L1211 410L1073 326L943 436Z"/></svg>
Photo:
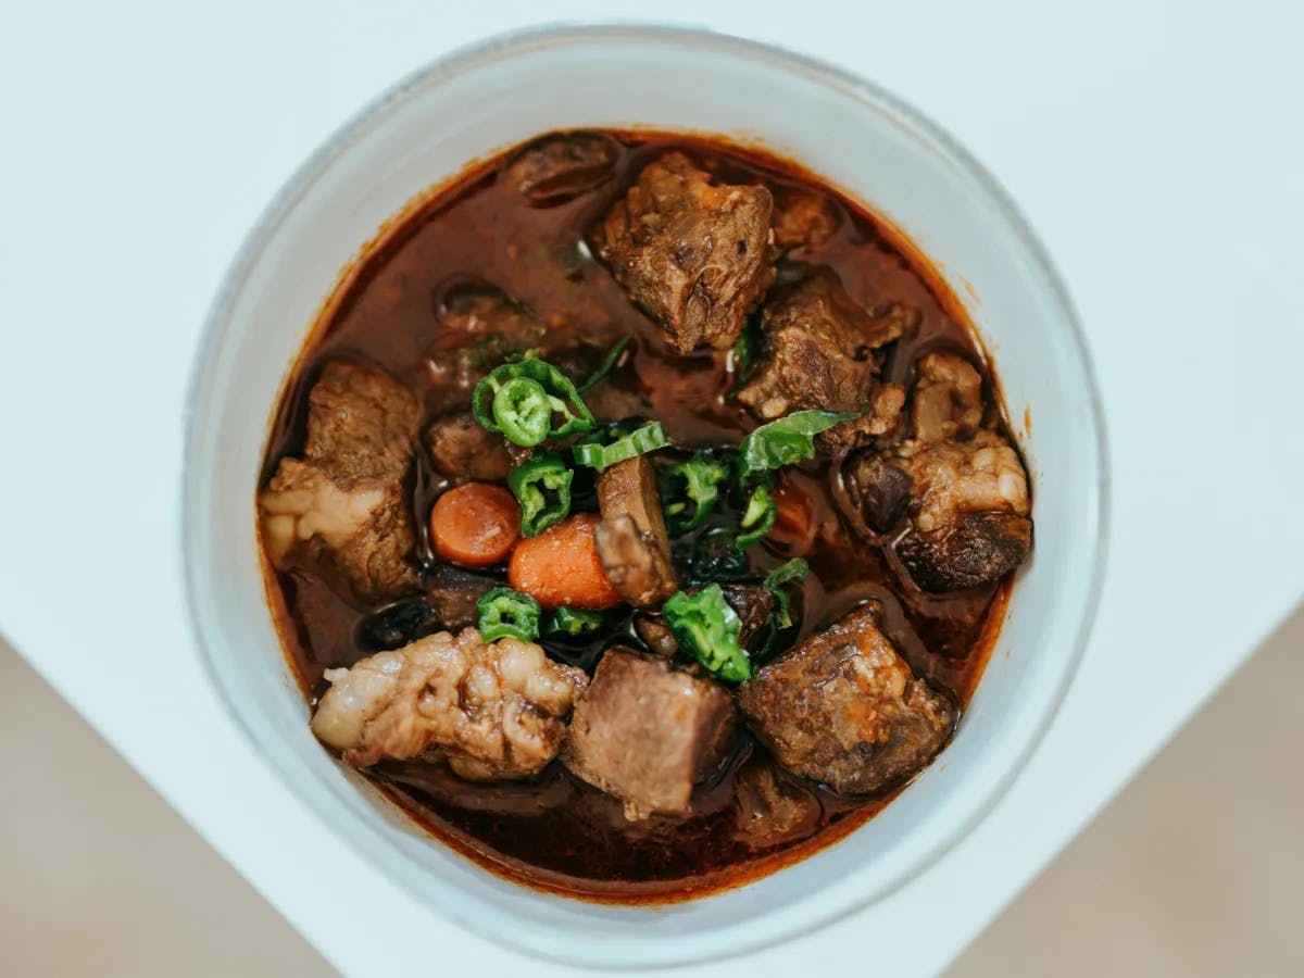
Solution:
<svg viewBox="0 0 1304 978"><path fill-rule="evenodd" d="M720 764L734 725L733 700L720 686L613 648L575 704L562 762L623 801L631 822L686 815L692 786Z"/></svg>

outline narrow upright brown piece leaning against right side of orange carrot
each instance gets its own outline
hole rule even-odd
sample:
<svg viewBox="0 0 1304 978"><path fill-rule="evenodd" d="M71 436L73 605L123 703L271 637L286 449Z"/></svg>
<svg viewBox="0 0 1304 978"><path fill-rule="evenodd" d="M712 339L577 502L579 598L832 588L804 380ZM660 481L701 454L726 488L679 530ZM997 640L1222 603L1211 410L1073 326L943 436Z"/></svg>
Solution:
<svg viewBox="0 0 1304 978"><path fill-rule="evenodd" d="M597 477L597 501L602 522L593 540L612 585L635 608L660 605L678 584L656 469L648 458L636 455L604 469Z"/></svg>

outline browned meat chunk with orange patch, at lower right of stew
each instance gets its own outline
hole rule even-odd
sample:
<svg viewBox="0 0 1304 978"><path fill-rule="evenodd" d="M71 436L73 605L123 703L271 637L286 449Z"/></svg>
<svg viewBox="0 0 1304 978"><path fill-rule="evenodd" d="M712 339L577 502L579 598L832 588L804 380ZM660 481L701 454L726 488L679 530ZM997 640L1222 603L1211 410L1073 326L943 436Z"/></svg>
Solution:
<svg viewBox="0 0 1304 978"><path fill-rule="evenodd" d="M789 771L842 794L884 792L922 769L955 709L913 678L866 605L760 669L738 690L756 737Z"/></svg>

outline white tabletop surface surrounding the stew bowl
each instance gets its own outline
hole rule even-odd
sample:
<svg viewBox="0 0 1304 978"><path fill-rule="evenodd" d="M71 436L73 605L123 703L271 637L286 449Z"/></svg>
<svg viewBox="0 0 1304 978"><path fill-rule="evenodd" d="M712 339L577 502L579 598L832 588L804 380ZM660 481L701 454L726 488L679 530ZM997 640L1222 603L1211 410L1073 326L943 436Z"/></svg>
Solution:
<svg viewBox="0 0 1304 978"><path fill-rule="evenodd" d="M1068 702L977 831L891 898L713 975L943 968L1304 595L1300 8L854 7L655 12L866 74L1005 184L1059 262L1099 369L1110 569ZM0 12L0 631L347 973L526 962L340 852L218 708L179 575L200 325L271 194L381 87L539 18L651 9Z"/></svg>

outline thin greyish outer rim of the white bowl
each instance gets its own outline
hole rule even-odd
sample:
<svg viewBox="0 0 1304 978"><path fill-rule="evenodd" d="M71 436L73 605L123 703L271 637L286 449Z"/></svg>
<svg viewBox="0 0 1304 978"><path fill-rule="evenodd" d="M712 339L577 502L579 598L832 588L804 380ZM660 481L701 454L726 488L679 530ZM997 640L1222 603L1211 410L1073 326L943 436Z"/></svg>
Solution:
<svg viewBox="0 0 1304 978"><path fill-rule="evenodd" d="M987 168L983 167L966 149L964 149L947 130L900 96L885 90L878 83L868 81L867 78L862 78L854 72L810 55L790 51L780 44L755 40L709 27L689 26L664 21L631 18L552 21L497 33L454 47L443 55L439 55L424 65L408 72L398 81L386 86L379 94L366 100L360 108L355 110L282 183L279 189L262 209L253 227L240 241L237 250L223 273L222 280L214 293L209 312L201 327L201 334L193 353L181 416L183 446L181 479L179 485L181 492L181 505L179 507L180 533L177 558L180 559L183 574L184 613L194 647L200 653L200 660L207 678L218 694L222 709L231 717L235 726L241 732L246 743L253 748L254 755L276 776L278 780L284 784L280 765L262 750L256 732L249 726L240 712L235 709L224 690L219 664L214 659L213 645L205 632L198 612L198 606L202 600L202 587L198 579L198 571L194 562L189 559L194 546L194 535L190 529L196 519L193 501L200 498L197 493L193 492L197 485L198 473L196 471L197 467L192 466L190 460L194 458L194 454L201 445L201 424L205 420L203 407L207 404L209 395L211 394L211 373L209 370L209 364L218 359L219 352L228 340L226 326L236 297L244 289L253 269L257 266L262 252L266 248L267 241L276 233L282 223L295 211L303 198L308 194L309 189L329 171L331 164L340 155L349 151L351 147L359 140L364 138L374 125L377 125L395 107L402 104L416 91L428 85L438 83L441 80L455 77L484 64L502 59L511 59L539 47L567 43L593 43L602 40L635 43L651 40L660 43L669 42L695 44L699 47L712 47L716 51L728 55L765 61L778 70L797 73L818 83L836 87L844 94L849 94L854 99L866 104L876 103L880 107L887 107L906 125L913 126L923 138L936 143L940 147L940 151L957 162L966 171L968 176L977 181L981 189L990 197L1000 216L1008 222L1009 231L1020 246L1026 250L1026 254L1030 257L1037 271L1045 278L1045 284L1054 301L1063 309L1064 321L1068 326L1067 339L1072 347L1072 357L1082 372L1082 381L1086 387L1088 403L1085 408L1099 463L1095 485L1090 486L1089 493L1091 507L1089 512L1082 514L1082 519L1094 526L1095 529L1094 535L1090 536L1093 540L1090 553L1091 566L1086 582L1082 610L1078 621L1072 629L1071 651L1065 660L1065 668L1058 678L1056 687L1047 698L1042 716L1037 719L1026 742L1022 743L1017 754L1011 758L1004 775L991 782L986 795L979 803L974 805L973 811L970 811L968 818L957 822L945 833L945 837L936 842L931 849L922 853L915 859L914 865L909 866L904 871L900 871L896 878L889 879L883 887L878 888L872 896L865 900L846 901L845 905L835 908L833 910L819 915L816 919L808 919L801 925L790 927L780 927L772 932L755 935L750 939L737 940L733 947L713 948L707 953L681 955L668 960L648 961L645 964L632 962L634 969L644 969L674 964L719 961L739 953L794 940L825 928L837 921L865 910L872 904L879 902L900 891L915 875L939 862L991 814L991 811L1009 792L1012 785L1018 780L1024 769L1026 769L1029 760L1043 743L1046 733L1059 713L1077 675L1088 640L1094 627L1103 591L1104 571L1108 562L1108 531L1111 526L1111 463L1108 455L1104 406L1101 396L1095 365L1091 359L1090 348L1086 343L1085 331L1077 309L1058 267L1046 248L1042 245L1041 240L1034 233L1022 211L1017 207L1013 198L996 180L996 177L988 172ZM292 795L296 797L296 799L304 801L303 793L295 785L289 784L286 786ZM308 808L329 832L336 836L340 835L340 828L334 820L323 818L318 812L313 811L310 806L308 806ZM349 844L352 845L352 842ZM385 870L385 867L377 868L391 883L396 884L409 896L417 898L422 906L430 908L446 919L455 919L447 914L445 908L426 900L422 893L417 892L400 875L391 874ZM477 866L476 868L481 872L488 872L488 870L484 870L482 867ZM527 884L516 883L515 885L528 888ZM542 891L535 892L542 896L570 898L553 893L545 893ZM515 947L523 947L516 945L515 941L512 941L512 944ZM582 966L596 966L599 964L596 961L580 962L575 958L548 953L540 948L531 949L535 953L542 953L542 956L549 960L565 964L580 964ZM631 964L626 964L626 966L631 966Z"/></svg>

